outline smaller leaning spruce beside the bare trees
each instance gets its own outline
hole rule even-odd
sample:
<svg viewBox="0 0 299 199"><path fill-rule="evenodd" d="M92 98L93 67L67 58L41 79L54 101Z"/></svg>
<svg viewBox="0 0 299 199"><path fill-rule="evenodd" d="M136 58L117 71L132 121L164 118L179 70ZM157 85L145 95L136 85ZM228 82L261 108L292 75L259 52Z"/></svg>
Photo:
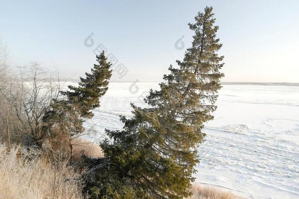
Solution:
<svg viewBox="0 0 299 199"><path fill-rule="evenodd" d="M93 117L91 111L100 107L100 97L106 93L112 75L110 70L112 64L107 62L104 52L96 58L97 64L94 64L91 73L85 73L86 78L80 77L78 86L69 85L69 90L61 91L65 97L55 100L51 110L44 117L47 124L44 126L45 131L55 136L53 126L59 126L59 131L70 146L71 158L73 158L72 141L84 132L83 122Z"/></svg>

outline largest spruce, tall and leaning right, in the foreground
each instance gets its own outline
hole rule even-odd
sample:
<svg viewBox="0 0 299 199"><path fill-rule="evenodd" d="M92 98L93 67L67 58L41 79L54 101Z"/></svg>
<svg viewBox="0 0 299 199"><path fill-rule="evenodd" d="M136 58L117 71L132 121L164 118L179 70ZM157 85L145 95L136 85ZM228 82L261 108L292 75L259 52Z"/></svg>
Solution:
<svg viewBox="0 0 299 199"><path fill-rule="evenodd" d="M212 7L199 12L192 47L178 68L169 67L160 90L150 90L145 102L150 108L132 104L133 117L121 116L124 129L106 130L113 141L100 144L104 158L94 165L87 187L95 198L174 199L191 195L197 146L203 142L203 124L216 110L221 88L219 69L223 56L216 36L218 26Z"/></svg>

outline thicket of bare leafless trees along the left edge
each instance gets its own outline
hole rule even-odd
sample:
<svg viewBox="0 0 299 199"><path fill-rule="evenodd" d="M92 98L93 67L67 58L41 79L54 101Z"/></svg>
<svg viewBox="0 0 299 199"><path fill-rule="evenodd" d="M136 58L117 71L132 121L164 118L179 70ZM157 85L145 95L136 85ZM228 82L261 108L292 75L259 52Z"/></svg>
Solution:
<svg viewBox="0 0 299 199"><path fill-rule="evenodd" d="M38 63L12 71L8 53L0 40L0 138L10 147L12 139L22 142L30 135L41 144L50 138L43 131L43 116L59 96L60 82L57 70L50 72Z"/></svg>

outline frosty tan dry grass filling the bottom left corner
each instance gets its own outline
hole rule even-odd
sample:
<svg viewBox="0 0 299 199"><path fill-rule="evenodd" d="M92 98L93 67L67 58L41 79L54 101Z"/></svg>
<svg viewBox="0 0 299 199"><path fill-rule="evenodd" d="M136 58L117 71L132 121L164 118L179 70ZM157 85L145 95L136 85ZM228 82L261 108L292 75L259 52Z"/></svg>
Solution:
<svg viewBox="0 0 299 199"><path fill-rule="evenodd" d="M0 146L0 199L83 199L80 178L66 160L19 154Z"/></svg>

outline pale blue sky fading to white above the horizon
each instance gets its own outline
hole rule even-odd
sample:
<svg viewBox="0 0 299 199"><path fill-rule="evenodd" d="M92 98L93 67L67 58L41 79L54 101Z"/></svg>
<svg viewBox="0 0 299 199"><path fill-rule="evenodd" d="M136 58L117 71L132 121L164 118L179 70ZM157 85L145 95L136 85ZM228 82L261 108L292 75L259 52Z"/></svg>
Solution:
<svg viewBox="0 0 299 199"><path fill-rule="evenodd" d="M223 81L299 82L298 0L0 0L0 36L14 65L54 63L63 78L75 79L90 71L103 44L128 69L113 81L161 81L183 58L175 42L184 36L190 46L187 24L206 5L220 26Z"/></svg>

